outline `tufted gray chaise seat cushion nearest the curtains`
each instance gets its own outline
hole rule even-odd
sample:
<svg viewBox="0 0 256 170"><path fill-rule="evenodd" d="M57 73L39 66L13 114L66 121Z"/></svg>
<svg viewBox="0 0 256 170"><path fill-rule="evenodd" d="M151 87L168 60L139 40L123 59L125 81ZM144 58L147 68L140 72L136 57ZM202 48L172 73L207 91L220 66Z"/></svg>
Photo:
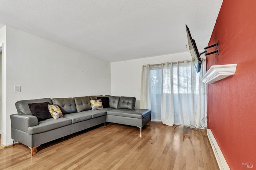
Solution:
<svg viewBox="0 0 256 170"><path fill-rule="evenodd" d="M132 117L142 119L151 114L151 110L148 109L112 109L107 111L107 115L114 115L114 116L122 116L122 117Z"/></svg>

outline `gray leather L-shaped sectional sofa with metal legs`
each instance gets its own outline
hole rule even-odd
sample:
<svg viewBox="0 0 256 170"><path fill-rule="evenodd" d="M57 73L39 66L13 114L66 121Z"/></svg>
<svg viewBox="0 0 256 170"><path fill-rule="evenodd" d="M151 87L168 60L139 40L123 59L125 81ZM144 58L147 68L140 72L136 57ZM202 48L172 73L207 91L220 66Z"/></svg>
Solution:
<svg viewBox="0 0 256 170"><path fill-rule="evenodd" d="M15 103L18 114L10 115L12 139L28 146L31 156L34 149L52 140L79 132L86 128L106 122L131 125L140 128L150 123L151 110L134 109L135 97L116 97L106 95L109 107L92 110L90 100L103 96L87 96L74 98L45 98L35 100L22 100ZM33 116L28 104L49 102L58 105L63 117L58 119L45 119L38 121Z"/></svg>

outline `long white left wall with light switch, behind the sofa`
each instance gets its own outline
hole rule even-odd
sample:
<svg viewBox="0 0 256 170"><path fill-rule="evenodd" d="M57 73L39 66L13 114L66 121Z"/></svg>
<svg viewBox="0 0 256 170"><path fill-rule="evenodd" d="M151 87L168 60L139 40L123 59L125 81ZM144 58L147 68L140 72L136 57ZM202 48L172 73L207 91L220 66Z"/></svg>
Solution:
<svg viewBox="0 0 256 170"><path fill-rule="evenodd" d="M2 144L12 144L15 102L110 94L110 63L6 26L6 111ZM21 92L14 92L21 85Z"/></svg>

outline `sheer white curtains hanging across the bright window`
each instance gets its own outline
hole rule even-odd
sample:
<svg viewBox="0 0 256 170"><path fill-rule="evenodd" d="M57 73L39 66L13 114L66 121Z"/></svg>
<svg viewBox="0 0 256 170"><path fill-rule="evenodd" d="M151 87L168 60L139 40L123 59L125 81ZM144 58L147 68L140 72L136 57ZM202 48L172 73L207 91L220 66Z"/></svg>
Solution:
<svg viewBox="0 0 256 170"><path fill-rule="evenodd" d="M191 61L143 66L141 106L151 108L152 121L206 127L205 73L206 61L202 61L200 73Z"/></svg>

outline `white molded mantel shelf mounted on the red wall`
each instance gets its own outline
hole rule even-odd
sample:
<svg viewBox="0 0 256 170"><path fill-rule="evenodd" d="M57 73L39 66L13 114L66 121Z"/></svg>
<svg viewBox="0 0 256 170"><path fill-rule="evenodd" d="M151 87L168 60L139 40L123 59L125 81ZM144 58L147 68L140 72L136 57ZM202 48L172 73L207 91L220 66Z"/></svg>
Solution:
<svg viewBox="0 0 256 170"><path fill-rule="evenodd" d="M230 75L234 75L236 72L236 65L237 64L212 65L204 75L202 82L214 83Z"/></svg>

